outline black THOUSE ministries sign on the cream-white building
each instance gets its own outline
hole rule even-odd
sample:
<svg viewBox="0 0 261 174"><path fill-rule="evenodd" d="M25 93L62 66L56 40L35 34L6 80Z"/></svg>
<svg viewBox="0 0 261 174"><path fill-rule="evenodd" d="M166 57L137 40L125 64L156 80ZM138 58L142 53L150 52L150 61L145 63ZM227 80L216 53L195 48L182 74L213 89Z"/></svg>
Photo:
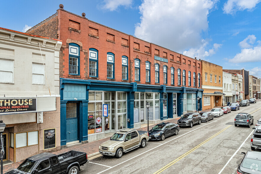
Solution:
<svg viewBox="0 0 261 174"><path fill-rule="evenodd" d="M37 112L36 103L36 99L0 99L0 115Z"/></svg>

